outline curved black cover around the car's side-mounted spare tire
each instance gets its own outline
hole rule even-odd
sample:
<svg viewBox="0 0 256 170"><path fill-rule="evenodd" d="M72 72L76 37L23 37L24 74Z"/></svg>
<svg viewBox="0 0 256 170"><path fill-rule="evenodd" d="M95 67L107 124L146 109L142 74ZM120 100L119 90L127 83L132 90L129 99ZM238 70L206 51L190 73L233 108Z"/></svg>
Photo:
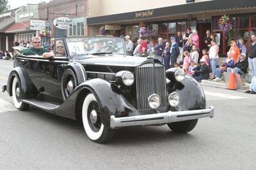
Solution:
<svg viewBox="0 0 256 170"><path fill-rule="evenodd" d="M74 74L74 76L76 77L76 87L87 80L86 71L82 64L80 64L79 62L70 62L69 64L67 64L67 67L65 69L66 71L64 72L61 79L61 94L64 100L69 97L64 92L67 86L67 74L69 74L68 71L72 72L72 74Z"/></svg>

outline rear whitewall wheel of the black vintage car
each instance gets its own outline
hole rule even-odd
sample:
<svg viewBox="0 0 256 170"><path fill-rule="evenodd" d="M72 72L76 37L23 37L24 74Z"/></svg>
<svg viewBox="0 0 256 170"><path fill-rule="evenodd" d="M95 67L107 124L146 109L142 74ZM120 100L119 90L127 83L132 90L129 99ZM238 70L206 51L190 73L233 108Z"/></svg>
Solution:
<svg viewBox="0 0 256 170"><path fill-rule="evenodd" d="M21 89L20 89L20 81L17 76L13 78L12 81L12 99L15 108L18 110L28 110L29 104L26 104L20 100L20 95L21 95Z"/></svg>

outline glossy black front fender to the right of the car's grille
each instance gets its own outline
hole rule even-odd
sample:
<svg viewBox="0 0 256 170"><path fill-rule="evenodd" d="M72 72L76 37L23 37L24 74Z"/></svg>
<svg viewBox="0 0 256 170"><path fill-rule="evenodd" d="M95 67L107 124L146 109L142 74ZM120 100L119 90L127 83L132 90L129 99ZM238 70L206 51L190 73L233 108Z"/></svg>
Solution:
<svg viewBox="0 0 256 170"><path fill-rule="evenodd" d="M180 103L176 107L170 107L172 111L202 110L206 107L204 90L190 76L185 76L181 82L168 83L166 89L168 95L172 92L177 92L180 96Z"/></svg>

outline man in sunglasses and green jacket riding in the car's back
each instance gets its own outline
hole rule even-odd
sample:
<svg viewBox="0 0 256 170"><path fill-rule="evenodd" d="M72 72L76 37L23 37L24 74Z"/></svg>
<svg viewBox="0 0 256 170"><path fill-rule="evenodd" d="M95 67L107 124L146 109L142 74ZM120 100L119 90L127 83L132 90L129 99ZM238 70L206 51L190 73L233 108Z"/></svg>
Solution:
<svg viewBox="0 0 256 170"><path fill-rule="evenodd" d="M49 52L47 48L41 47L41 38L33 37L32 38L32 46L26 50L24 50L24 55L43 55L45 52Z"/></svg>

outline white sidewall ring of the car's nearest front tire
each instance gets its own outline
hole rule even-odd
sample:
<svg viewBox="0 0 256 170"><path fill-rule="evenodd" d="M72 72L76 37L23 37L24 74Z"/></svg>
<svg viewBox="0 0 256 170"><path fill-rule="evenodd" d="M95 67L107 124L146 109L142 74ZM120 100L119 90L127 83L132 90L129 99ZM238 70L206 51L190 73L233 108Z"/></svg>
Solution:
<svg viewBox="0 0 256 170"><path fill-rule="evenodd" d="M104 130L104 125L101 124L100 130L98 132L94 132L91 129L91 127L88 123L87 111L88 111L88 106L92 101L96 101L96 98L93 94L88 94L84 98L83 109L82 109L82 119L83 119L84 130L85 130L87 136L90 139L92 139L93 141L95 141L95 140L99 139L102 136L102 133L103 133L103 130Z"/></svg>

